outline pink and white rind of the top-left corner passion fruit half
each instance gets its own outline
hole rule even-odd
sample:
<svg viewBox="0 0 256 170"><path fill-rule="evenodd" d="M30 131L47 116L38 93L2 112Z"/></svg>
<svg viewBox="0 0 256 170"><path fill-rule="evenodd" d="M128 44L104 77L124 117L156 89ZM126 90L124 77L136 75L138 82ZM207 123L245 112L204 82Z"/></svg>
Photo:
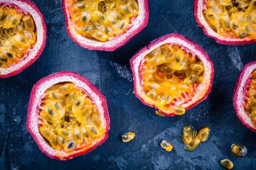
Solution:
<svg viewBox="0 0 256 170"><path fill-rule="evenodd" d="M34 19L37 30L36 44L33 49L28 49L17 64L14 64L6 69L0 68L0 78L6 78L19 74L25 68L33 64L41 55L46 43L46 24L42 12L38 9L36 4L30 0L2 0L0 2L3 6L15 6L18 12L30 13Z"/></svg>

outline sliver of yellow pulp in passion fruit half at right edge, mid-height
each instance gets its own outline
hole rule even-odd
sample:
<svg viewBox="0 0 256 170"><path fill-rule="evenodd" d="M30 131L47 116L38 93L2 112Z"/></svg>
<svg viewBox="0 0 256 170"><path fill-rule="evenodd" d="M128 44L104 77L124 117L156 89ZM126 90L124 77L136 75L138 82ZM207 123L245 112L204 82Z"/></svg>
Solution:
<svg viewBox="0 0 256 170"><path fill-rule="evenodd" d="M248 94L245 99L244 110L249 118L252 119L253 125L256 128L256 69L252 71L250 78Z"/></svg>

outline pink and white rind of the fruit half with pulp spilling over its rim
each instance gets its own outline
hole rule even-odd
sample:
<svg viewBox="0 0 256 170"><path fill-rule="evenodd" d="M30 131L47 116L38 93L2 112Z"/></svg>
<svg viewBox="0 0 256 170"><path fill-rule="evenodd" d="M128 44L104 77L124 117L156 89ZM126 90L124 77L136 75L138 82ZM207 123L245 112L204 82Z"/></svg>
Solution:
<svg viewBox="0 0 256 170"><path fill-rule="evenodd" d="M186 110L192 108L193 106L195 106L196 104L198 104L199 102L207 98L208 94L212 89L214 68L213 68L212 61L208 57L208 54L204 51L204 49L201 46L199 46L192 40L176 33L167 34L149 42L147 46L139 49L132 56L130 60L130 67L132 72L131 73L132 84L133 84L135 96L139 98L143 104L146 104L150 107L154 107L156 110L158 110L165 116L175 116L174 113L172 112L166 112L156 107L154 103L152 103L148 99L148 97L146 97L142 88L143 82L141 81L140 74L139 74L139 69L140 69L140 65L142 64L141 61L143 57L147 53L155 49L156 47L159 47L166 43L171 45L180 45L182 48L186 49L187 52L191 52L193 56L197 55L198 58L204 64L204 68L205 68L204 82L202 83L202 85L197 87L196 93L191 100L186 101L185 103L179 103Z"/></svg>

